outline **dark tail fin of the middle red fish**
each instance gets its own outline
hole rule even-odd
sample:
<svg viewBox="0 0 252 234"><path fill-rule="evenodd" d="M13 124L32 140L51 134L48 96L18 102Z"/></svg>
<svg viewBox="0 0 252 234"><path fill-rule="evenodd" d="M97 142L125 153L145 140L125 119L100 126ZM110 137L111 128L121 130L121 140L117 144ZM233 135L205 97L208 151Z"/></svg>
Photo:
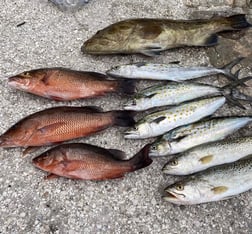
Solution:
<svg viewBox="0 0 252 234"><path fill-rule="evenodd" d="M121 127L131 127L136 121L132 111L113 111L114 124Z"/></svg>

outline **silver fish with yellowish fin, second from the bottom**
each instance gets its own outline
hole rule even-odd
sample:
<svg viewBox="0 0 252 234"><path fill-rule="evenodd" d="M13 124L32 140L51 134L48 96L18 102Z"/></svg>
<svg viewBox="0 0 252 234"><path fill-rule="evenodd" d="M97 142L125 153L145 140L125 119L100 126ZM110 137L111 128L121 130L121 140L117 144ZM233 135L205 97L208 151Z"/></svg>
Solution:
<svg viewBox="0 0 252 234"><path fill-rule="evenodd" d="M252 137L226 139L181 153L167 162L162 171L169 175L189 175L251 154Z"/></svg>

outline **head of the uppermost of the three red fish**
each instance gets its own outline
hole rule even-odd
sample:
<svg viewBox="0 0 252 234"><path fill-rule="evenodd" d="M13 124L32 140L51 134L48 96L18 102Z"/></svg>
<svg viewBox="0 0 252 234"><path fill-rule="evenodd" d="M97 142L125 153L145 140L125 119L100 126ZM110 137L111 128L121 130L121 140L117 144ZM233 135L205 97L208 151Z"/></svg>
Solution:
<svg viewBox="0 0 252 234"><path fill-rule="evenodd" d="M25 71L8 79L8 84L19 90L31 90L46 77L42 69Z"/></svg>

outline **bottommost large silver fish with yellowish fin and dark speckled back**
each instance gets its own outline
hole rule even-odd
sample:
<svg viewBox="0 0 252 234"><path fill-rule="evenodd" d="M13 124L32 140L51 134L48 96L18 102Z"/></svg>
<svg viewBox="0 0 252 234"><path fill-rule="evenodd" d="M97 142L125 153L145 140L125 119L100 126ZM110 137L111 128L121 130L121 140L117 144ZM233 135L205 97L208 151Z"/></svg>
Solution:
<svg viewBox="0 0 252 234"><path fill-rule="evenodd" d="M210 168L165 189L164 200L194 205L226 200L252 188L252 158Z"/></svg>

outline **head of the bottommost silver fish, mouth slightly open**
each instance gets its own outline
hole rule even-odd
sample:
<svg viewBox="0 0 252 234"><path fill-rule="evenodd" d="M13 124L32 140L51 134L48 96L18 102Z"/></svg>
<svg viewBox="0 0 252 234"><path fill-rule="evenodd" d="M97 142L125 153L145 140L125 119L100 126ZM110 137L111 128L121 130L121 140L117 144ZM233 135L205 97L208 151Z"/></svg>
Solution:
<svg viewBox="0 0 252 234"><path fill-rule="evenodd" d="M164 200L178 205L192 205L206 202L213 192L207 181L189 176L165 189Z"/></svg>

